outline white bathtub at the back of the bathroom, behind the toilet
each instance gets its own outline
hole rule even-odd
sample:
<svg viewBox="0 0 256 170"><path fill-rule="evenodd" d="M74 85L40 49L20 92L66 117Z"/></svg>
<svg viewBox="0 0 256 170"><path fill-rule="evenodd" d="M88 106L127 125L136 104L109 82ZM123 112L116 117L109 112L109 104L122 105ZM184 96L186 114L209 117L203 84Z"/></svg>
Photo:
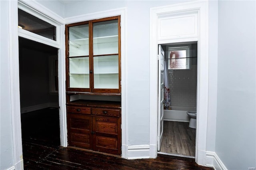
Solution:
<svg viewBox="0 0 256 170"><path fill-rule="evenodd" d="M196 107L172 106L172 110L164 110L164 121L189 122L187 111L196 111Z"/></svg>

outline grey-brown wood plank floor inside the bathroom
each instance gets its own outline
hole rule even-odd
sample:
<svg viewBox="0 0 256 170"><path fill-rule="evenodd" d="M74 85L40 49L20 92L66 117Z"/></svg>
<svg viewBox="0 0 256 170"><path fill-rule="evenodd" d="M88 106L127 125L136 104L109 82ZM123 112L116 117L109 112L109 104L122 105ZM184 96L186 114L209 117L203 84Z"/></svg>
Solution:
<svg viewBox="0 0 256 170"><path fill-rule="evenodd" d="M164 134L160 152L195 156L196 129L188 122L164 121Z"/></svg>

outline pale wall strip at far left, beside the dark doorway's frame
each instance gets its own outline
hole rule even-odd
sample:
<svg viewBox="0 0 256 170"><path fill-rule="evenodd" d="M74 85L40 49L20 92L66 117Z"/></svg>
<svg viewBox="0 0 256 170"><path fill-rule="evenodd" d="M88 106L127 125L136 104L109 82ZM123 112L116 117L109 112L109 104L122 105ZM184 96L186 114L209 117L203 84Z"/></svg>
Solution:
<svg viewBox="0 0 256 170"><path fill-rule="evenodd" d="M0 1L0 169L14 165L10 101L8 1Z"/></svg>

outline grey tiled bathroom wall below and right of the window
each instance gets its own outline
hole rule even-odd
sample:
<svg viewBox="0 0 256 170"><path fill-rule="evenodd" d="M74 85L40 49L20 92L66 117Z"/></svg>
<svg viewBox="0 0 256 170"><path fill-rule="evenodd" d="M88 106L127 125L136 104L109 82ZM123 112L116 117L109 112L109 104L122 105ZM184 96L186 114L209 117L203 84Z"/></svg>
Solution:
<svg viewBox="0 0 256 170"><path fill-rule="evenodd" d="M168 70L171 106L196 107L197 44L192 44L190 69Z"/></svg>

